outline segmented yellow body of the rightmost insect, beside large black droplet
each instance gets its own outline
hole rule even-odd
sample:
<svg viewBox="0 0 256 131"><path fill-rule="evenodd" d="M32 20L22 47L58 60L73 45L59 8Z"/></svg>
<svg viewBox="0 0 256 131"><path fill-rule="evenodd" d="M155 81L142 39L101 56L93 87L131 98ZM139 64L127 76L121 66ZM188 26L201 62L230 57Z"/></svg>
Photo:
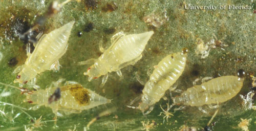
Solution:
<svg viewBox="0 0 256 131"><path fill-rule="evenodd" d="M211 79L187 89L181 96L175 98L174 102L190 106L225 102L240 92L243 81L244 79L238 76L222 76Z"/></svg>

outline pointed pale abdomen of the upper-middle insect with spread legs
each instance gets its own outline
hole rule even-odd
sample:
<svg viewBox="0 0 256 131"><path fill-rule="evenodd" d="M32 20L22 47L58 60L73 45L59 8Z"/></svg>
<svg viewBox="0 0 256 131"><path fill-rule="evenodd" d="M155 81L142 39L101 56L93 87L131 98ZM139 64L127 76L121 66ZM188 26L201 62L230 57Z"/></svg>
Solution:
<svg viewBox="0 0 256 131"><path fill-rule="evenodd" d="M120 70L118 69L120 64L131 61L141 55L147 41L153 34L154 32L150 31L122 36L115 43L112 43L113 46L106 50L100 59L104 63L110 64L114 68L112 69L113 71Z"/></svg>

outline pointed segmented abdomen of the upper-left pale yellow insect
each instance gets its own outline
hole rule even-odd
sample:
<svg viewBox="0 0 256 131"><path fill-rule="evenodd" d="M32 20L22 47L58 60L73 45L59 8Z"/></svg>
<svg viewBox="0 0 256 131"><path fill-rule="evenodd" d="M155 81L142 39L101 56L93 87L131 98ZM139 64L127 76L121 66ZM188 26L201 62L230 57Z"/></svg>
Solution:
<svg viewBox="0 0 256 131"><path fill-rule="evenodd" d="M35 68L37 73L49 70L50 66L66 53L68 39L74 23L75 21L71 21L42 36L35 50L26 61L27 67Z"/></svg>

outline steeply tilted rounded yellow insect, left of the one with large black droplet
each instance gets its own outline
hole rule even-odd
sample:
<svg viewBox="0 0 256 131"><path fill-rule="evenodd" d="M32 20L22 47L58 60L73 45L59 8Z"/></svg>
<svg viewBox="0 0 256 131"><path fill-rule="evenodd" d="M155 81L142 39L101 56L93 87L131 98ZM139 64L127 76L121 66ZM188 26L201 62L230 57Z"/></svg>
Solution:
<svg viewBox="0 0 256 131"><path fill-rule="evenodd" d="M155 66L150 80L146 82L142 91L142 102L138 106L139 110L144 113L150 107L150 110L145 114L150 113L153 110L154 104L177 81L185 69L187 51L184 48L182 52L167 55Z"/></svg>

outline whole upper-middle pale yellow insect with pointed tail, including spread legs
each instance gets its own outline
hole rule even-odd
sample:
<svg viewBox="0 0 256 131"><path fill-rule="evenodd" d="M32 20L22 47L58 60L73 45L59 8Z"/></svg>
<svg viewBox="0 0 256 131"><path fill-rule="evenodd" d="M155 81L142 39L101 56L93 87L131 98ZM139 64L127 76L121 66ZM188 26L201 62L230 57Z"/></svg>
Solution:
<svg viewBox="0 0 256 131"><path fill-rule="evenodd" d="M147 41L154 34L153 31L141 34L125 35L119 32L111 38L112 45L105 50L100 47L103 54L96 59L81 61L79 64L88 64L94 62L84 75L89 76L89 81L105 75L102 79L102 85L108 79L109 72L117 72L121 76L120 69L127 65L135 64L142 57Z"/></svg>

